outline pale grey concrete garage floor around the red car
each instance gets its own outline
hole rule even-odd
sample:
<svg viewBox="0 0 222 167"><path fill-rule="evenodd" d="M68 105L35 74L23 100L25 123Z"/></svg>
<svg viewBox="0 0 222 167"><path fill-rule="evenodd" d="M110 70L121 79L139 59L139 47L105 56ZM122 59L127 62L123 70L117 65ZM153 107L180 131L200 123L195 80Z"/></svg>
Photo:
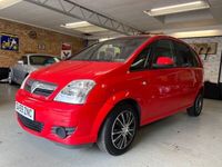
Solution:
<svg viewBox="0 0 222 167"><path fill-rule="evenodd" d="M68 149L23 131L14 119L18 87L0 84L0 167L221 167L222 101L203 114L181 112L140 129L133 147L112 157L97 146Z"/></svg>

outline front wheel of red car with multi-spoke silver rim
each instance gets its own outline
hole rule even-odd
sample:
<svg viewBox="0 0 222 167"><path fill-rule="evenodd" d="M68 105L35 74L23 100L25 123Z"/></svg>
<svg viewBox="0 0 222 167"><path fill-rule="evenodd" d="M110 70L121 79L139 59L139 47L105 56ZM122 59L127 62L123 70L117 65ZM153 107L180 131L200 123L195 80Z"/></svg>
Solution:
<svg viewBox="0 0 222 167"><path fill-rule="evenodd" d="M137 135L138 118L133 106L129 104L115 106L100 130L98 147L113 156L124 154Z"/></svg>

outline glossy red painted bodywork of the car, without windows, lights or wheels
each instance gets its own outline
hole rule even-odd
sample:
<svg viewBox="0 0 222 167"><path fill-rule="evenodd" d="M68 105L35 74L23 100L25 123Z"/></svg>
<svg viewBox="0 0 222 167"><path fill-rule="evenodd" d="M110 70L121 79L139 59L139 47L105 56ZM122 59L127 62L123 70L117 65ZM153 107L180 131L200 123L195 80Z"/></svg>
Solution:
<svg viewBox="0 0 222 167"><path fill-rule="evenodd" d="M130 37L133 38L133 37ZM27 131L65 145L95 143L99 130L111 109L120 101L131 99L140 109L140 126L191 107L202 89L203 69L169 68L131 72L130 66L138 53L159 39L148 38L125 62L63 61L31 73L30 78L58 85L48 98L19 89L16 100L36 111L36 120L43 122L41 132ZM180 41L181 42L181 41ZM97 86L84 105L54 101L57 94L70 81L92 79ZM73 135L62 139L51 130L53 126L75 127Z"/></svg>

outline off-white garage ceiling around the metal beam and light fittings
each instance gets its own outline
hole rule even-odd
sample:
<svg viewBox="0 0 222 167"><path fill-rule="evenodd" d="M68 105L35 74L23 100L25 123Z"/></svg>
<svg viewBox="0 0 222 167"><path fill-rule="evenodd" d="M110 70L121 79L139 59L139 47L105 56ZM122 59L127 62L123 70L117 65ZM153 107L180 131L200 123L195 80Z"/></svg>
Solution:
<svg viewBox="0 0 222 167"><path fill-rule="evenodd" d="M191 11L170 14L167 17L150 17L144 10L159 8L192 0L71 0L85 8L92 9L107 17L131 26L141 31L174 32L182 30L199 30L208 28L222 28L222 0L208 0L211 8L208 10ZM0 10L0 17L16 20L62 33L79 36L83 38L103 38L119 36L113 31L94 32L87 37L79 31L60 27L69 22L80 21L77 18L39 7L37 4L21 1L11 7Z"/></svg>

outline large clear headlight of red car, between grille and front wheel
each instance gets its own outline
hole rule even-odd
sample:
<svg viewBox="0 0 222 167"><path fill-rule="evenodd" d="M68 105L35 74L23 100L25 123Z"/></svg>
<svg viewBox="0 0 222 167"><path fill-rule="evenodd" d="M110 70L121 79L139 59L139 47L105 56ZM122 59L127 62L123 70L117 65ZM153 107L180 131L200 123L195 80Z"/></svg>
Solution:
<svg viewBox="0 0 222 167"><path fill-rule="evenodd" d="M93 80L73 80L56 96L54 100L68 104L84 104L88 94L94 86Z"/></svg>

